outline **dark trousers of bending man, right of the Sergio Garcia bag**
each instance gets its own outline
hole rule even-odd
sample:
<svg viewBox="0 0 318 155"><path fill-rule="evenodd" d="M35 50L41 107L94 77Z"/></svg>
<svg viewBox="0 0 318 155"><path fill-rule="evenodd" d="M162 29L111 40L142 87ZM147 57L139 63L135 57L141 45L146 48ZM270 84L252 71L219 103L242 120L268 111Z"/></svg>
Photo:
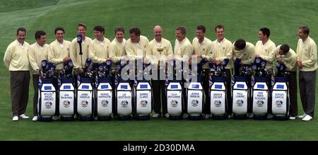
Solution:
<svg viewBox="0 0 318 155"><path fill-rule="evenodd" d="M289 81L288 81L288 88L289 88L289 98L290 98L290 109L289 115L290 116L297 116L298 115L298 105L297 105L297 71L288 71Z"/></svg>

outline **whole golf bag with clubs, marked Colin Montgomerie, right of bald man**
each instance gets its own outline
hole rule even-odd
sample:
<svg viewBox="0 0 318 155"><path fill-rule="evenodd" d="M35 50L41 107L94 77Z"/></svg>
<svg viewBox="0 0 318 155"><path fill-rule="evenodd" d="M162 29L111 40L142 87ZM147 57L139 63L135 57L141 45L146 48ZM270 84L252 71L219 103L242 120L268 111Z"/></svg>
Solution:
<svg viewBox="0 0 318 155"><path fill-rule="evenodd" d="M167 113L170 120L182 119L182 110L184 109L184 98L182 93L182 62L177 59L170 59L166 71L166 96ZM179 75L179 79L177 76Z"/></svg>

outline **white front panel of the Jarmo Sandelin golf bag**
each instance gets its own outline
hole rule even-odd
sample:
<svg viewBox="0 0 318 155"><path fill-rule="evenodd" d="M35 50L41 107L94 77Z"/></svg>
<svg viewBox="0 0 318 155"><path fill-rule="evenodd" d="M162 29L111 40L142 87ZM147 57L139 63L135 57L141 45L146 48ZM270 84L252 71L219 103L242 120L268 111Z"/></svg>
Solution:
<svg viewBox="0 0 318 155"><path fill-rule="evenodd" d="M78 86L77 113L81 116L93 114L93 87L91 84L82 83Z"/></svg>

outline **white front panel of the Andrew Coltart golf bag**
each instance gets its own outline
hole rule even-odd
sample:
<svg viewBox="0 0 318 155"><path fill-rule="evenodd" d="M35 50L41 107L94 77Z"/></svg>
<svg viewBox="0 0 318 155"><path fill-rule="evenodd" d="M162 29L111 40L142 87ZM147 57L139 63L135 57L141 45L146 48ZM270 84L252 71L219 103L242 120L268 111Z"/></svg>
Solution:
<svg viewBox="0 0 318 155"><path fill-rule="evenodd" d="M226 113L225 108L225 85L223 82L215 82L211 86L210 91L210 101L211 101L211 113L213 115L224 115Z"/></svg>

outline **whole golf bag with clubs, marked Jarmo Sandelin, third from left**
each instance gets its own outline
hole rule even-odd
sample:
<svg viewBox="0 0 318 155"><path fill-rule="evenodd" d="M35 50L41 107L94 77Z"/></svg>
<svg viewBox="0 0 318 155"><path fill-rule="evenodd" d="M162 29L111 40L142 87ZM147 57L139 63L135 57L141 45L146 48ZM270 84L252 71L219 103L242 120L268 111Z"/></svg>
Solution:
<svg viewBox="0 0 318 155"><path fill-rule="evenodd" d="M94 112L94 84L93 71L91 70L91 60L86 59L85 69L83 74L77 76L77 113L80 120L93 120Z"/></svg>

